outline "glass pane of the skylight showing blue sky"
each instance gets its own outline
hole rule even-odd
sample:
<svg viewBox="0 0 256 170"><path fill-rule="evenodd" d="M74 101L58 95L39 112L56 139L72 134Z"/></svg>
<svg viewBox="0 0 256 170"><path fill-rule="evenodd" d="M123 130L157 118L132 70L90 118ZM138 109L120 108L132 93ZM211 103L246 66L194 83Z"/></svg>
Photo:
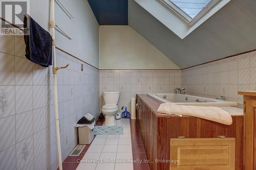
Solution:
<svg viewBox="0 0 256 170"><path fill-rule="evenodd" d="M168 0L173 3L192 19L200 12L211 0Z"/></svg>

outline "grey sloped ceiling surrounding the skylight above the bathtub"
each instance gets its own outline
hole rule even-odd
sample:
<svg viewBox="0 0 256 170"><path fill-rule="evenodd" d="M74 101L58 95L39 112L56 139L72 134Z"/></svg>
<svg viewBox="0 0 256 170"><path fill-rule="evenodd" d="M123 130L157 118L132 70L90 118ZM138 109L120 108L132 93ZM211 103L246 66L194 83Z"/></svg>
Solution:
<svg viewBox="0 0 256 170"><path fill-rule="evenodd" d="M255 0L230 1L184 39L134 0L128 1L128 23L180 68L256 48Z"/></svg>

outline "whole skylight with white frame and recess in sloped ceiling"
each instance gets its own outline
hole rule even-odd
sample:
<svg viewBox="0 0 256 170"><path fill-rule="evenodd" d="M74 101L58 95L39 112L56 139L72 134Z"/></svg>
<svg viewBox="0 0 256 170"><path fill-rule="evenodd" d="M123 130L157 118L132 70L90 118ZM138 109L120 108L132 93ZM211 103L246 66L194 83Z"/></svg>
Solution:
<svg viewBox="0 0 256 170"><path fill-rule="evenodd" d="M231 0L134 0L181 39Z"/></svg>

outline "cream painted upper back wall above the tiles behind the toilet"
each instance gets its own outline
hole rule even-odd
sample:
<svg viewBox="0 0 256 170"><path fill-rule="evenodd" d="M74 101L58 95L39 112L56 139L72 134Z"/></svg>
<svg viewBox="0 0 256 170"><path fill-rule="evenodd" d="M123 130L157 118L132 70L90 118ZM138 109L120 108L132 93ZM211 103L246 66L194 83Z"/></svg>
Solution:
<svg viewBox="0 0 256 170"><path fill-rule="evenodd" d="M100 26L100 69L179 69L130 26Z"/></svg>

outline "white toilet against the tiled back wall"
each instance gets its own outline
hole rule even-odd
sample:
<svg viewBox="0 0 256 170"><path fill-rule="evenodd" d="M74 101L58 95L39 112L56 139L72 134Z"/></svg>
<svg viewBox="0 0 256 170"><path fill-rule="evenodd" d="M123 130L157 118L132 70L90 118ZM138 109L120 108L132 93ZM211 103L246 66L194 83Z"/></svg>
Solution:
<svg viewBox="0 0 256 170"><path fill-rule="evenodd" d="M102 106L102 113L105 115L105 123L103 126L114 126L115 115L117 114L117 102L120 91L104 91L103 100L105 105Z"/></svg>

